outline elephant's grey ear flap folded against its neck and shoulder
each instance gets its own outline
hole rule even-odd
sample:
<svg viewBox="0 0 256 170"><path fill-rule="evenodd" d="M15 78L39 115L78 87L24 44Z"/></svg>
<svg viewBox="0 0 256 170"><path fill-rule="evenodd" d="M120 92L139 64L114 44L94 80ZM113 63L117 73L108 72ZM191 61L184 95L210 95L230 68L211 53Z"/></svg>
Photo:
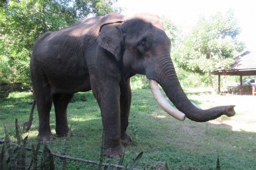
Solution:
<svg viewBox="0 0 256 170"><path fill-rule="evenodd" d="M121 21L104 23L100 26L99 35L97 37L98 44L111 52L117 61L121 59L124 49L120 22Z"/></svg>

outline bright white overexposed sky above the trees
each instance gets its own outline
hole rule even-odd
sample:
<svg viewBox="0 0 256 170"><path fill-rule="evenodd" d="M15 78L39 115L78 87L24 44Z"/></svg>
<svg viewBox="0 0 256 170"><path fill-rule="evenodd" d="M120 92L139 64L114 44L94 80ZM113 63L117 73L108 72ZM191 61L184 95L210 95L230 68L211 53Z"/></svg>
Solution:
<svg viewBox="0 0 256 170"><path fill-rule="evenodd" d="M147 12L168 16L176 25L189 29L196 24L199 16L206 18L216 12L234 11L241 27L237 37L247 49L256 49L256 0L118 0L122 14Z"/></svg>

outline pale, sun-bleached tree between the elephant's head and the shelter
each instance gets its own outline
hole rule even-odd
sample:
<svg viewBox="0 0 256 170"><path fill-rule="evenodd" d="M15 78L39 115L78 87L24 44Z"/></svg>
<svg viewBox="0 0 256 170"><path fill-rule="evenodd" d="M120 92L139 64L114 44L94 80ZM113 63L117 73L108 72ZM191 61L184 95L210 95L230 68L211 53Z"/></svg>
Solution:
<svg viewBox="0 0 256 170"><path fill-rule="evenodd" d="M208 74L213 87L211 71L226 68L244 44L236 39L240 33L233 11L216 13L208 20L201 17L174 53L176 64L187 71Z"/></svg>

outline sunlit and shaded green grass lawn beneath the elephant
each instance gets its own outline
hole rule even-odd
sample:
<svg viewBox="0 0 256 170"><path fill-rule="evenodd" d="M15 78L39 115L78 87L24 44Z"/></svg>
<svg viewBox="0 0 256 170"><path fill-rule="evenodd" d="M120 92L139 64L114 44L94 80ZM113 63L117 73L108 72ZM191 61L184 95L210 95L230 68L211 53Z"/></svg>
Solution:
<svg viewBox="0 0 256 170"><path fill-rule="evenodd" d="M133 90L128 132L134 142L125 146L123 165L131 164L143 151L138 168L215 169L217 155L222 169L254 169L256 167L256 96L210 95L208 92L186 90L188 97L202 108L235 104L236 115L221 116L209 122L194 122L188 118L179 121L165 113L155 102L149 89ZM4 138L5 123L15 141L15 118L25 122L33 97L28 92L10 92L0 98L0 138ZM90 160L99 160L102 137L100 109L91 92L75 94L68 106L69 125L76 136L70 137L66 154ZM55 134L54 107L51 111L51 129ZM35 109L28 146L37 144L38 115ZM56 137L48 146L61 153L64 137ZM42 148L41 148L42 149ZM28 153L30 154L30 153ZM104 158L117 163L119 159ZM59 161L55 158L55 161ZM67 160L67 169L96 169L95 165Z"/></svg>

